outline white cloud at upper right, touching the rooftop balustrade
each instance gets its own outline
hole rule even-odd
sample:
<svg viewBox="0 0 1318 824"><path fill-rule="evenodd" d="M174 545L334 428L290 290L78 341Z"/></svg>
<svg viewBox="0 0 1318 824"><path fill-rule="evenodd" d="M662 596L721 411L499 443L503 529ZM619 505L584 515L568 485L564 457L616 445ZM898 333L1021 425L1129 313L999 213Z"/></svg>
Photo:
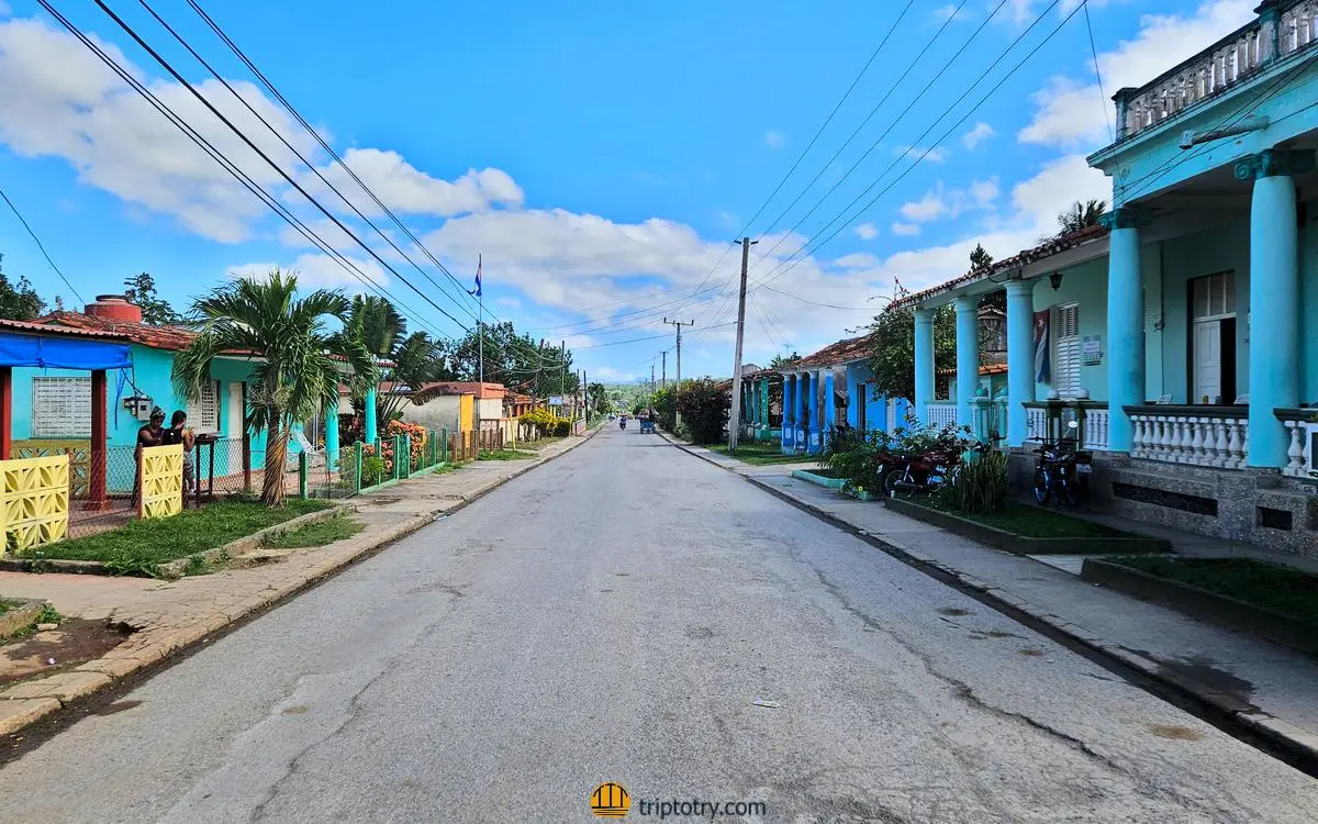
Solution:
<svg viewBox="0 0 1318 824"><path fill-rule="evenodd" d="M1072 3L1074 5L1074 3ZM1253 20L1256 0L1205 0L1188 16L1144 15L1133 40L1098 55L1107 92L1139 87L1193 57L1219 38ZM1085 78L1054 75L1033 95L1033 119L1020 131L1023 142L1056 146L1093 146L1107 140L1112 104L1093 79L1086 61Z"/></svg>

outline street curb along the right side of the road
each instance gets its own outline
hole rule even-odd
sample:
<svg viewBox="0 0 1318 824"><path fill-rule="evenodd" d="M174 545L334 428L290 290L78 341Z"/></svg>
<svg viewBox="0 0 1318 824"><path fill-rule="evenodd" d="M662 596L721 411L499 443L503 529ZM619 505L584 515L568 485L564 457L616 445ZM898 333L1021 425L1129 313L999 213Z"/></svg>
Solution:
<svg viewBox="0 0 1318 824"><path fill-rule="evenodd" d="M979 580L971 575L961 572L960 570L949 567L948 564L940 563L933 558L921 556L919 551L912 547L902 546L891 539L875 537L865 529L845 521L826 509L787 494L772 484L749 475L742 475L734 467L726 467L716 460L712 460L685 444L676 443L671 439L667 440L683 452L745 479L750 484L763 489L774 497L815 515L830 526L859 538L884 554L891 555L920 572L924 572L929 577L957 587L962 592L971 595L975 600L996 609L1007 617L1017 622L1023 622L1027 626L1031 626L1032 629L1053 638L1054 641L1064 639L1066 646L1085 654L1086 658L1102 664L1104 668L1127 678L1127 680L1131 680L1135 686L1148 688L1148 684L1151 683L1160 687L1160 690L1151 691L1155 692L1155 695L1159 695L1159 697L1180 699L1182 708L1198 708L1199 711L1194 715L1214 726L1218 726L1223 732L1236 737L1239 737L1239 732L1242 729L1251 733L1263 742L1269 744L1269 749L1273 750L1273 754L1286 763L1290 763L1296 769L1311 777L1318 777L1318 736L1298 729L1282 719L1260 712L1257 707L1242 704L1239 699L1223 695L1219 690L1214 690L1194 679L1168 672L1159 662L1133 653L1097 633L1091 633L1079 625L1072 624L1065 618L1054 616L1043 608L1012 595L1011 592L999 589L987 581ZM1132 679L1130 678L1131 675L1136 678ZM1141 684L1140 682L1147 683ZM1184 707L1184 701L1189 701L1191 707Z"/></svg>

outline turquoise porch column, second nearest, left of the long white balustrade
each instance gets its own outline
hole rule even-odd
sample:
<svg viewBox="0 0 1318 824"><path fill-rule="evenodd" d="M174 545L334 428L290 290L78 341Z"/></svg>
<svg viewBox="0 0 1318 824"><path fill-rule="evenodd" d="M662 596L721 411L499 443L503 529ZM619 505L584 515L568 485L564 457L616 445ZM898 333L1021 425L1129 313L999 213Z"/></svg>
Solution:
<svg viewBox="0 0 1318 824"><path fill-rule="evenodd" d="M1144 276L1140 272L1143 221L1130 207L1104 216L1108 236L1107 262L1107 409L1111 421L1108 448L1130 452L1135 427L1124 406L1144 402Z"/></svg>

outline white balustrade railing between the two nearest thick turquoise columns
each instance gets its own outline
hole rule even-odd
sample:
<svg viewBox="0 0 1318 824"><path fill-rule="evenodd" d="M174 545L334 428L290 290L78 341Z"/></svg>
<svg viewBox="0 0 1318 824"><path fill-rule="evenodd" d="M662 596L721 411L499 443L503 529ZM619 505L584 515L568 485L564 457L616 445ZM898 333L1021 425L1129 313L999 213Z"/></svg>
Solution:
<svg viewBox="0 0 1318 824"><path fill-rule="evenodd" d="M1239 469L1249 454L1249 418L1244 410L1170 411L1128 406L1135 427L1132 457L1194 467Z"/></svg>

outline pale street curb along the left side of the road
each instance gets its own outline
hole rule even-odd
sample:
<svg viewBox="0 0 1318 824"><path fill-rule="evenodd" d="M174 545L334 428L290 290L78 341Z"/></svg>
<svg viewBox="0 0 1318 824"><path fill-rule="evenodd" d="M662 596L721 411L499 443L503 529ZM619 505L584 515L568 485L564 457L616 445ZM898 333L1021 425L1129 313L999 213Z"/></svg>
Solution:
<svg viewBox="0 0 1318 824"><path fill-rule="evenodd" d="M561 455L567 455L583 446L598 431L600 427L588 430L584 435L579 436L580 440L559 452L529 460L526 461L527 465L519 467L517 471L506 475L498 475L490 483L481 484L476 489L463 493L456 502L435 506L395 526L387 527L382 533L372 535L362 546L349 552L339 556L328 555L324 562L308 567L306 577L294 585L269 588L265 591L269 592L269 596L253 596L240 603L231 612L224 613L224 616L200 620L186 628L174 630L158 643L153 643L145 650L134 650L130 655L115 655L115 650L111 650L107 655L79 664L74 670L9 686L7 690L0 691L0 736L9 736L32 724L47 720L54 713L75 707L105 687L120 683L127 678L145 676L148 675L148 670L167 666L166 662L169 659L188 654L203 639L231 632L260 613L282 605L294 596L332 577L348 566L374 555L399 539L434 523L439 515L451 515L498 489L507 481L526 475L531 469L544 465ZM337 512L337 508L331 508L326 512ZM319 515L322 513L311 514ZM347 541L351 542L353 539L349 538ZM331 547L333 544L320 547L318 551L331 550ZM16 690L18 691L17 695L7 696L7 693Z"/></svg>

